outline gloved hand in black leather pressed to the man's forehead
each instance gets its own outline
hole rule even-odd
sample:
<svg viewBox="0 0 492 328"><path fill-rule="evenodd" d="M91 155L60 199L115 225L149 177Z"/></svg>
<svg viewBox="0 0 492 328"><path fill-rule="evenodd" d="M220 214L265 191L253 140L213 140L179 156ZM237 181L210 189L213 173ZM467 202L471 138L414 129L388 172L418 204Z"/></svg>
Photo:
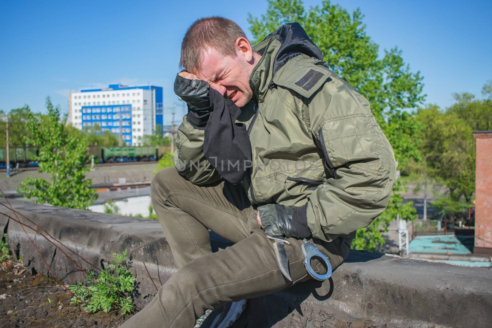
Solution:
<svg viewBox="0 0 492 328"><path fill-rule="evenodd" d="M174 93L188 105L188 110L203 116L212 109L210 106L209 84L199 79L187 79L179 74L174 80Z"/></svg>

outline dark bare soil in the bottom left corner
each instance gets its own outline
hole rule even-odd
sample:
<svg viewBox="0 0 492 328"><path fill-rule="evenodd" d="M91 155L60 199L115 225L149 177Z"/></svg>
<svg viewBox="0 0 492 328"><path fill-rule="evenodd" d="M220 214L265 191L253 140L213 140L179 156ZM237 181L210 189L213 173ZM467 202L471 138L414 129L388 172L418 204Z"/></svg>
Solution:
<svg viewBox="0 0 492 328"><path fill-rule="evenodd" d="M31 276L21 264L3 263L0 327L116 328L131 317L117 311L89 313L70 304L71 297L60 281L40 274Z"/></svg>

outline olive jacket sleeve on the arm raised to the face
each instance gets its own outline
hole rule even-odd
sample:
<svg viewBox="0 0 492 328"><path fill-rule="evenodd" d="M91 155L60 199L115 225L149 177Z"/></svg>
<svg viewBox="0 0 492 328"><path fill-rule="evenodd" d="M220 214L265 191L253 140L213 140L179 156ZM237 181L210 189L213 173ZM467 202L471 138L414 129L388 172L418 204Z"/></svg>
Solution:
<svg viewBox="0 0 492 328"><path fill-rule="evenodd" d="M182 176L197 185L213 183L221 178L214 166L205 158L204 136L204 129L193 126L184 116L178 128L173 162Z"/></svg>

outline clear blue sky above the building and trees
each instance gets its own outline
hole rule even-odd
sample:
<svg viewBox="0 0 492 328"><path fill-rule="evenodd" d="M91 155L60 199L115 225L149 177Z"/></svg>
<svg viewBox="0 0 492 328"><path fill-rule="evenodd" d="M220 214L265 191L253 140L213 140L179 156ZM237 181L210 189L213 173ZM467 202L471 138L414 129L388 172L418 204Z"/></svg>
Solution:
<svg viewBox="0 0 492 328"><path fill-rule="evenodd" d="M306 7L320 3L304 1ZM361 8L381 54L394 46L403 51L411 70L424 76L428 103L447 107L452 92L480 97L492 79L492 1L333 3L350 12ZM67 112L70 90L112 83L162 86L164 106L173 106L178 99L172 83L189 24L221 15L250 36L247 13L259 16L266 7L266 0L1 1L0 109L28 104L44 112L49 95Z"/></svg>

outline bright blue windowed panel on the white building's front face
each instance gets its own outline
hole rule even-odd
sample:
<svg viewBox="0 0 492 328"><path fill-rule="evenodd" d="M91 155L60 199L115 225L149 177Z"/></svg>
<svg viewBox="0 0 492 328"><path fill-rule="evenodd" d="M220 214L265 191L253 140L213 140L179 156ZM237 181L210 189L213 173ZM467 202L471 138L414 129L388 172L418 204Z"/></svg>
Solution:
<svg viewBox="0 0 492 328"><path fill-rule="evenodd" d="M101 132L123 136L123 142L132 144L131 105L82 106L82 128L99 124ZM123 129L121 132L120 129Z"/></svg>

